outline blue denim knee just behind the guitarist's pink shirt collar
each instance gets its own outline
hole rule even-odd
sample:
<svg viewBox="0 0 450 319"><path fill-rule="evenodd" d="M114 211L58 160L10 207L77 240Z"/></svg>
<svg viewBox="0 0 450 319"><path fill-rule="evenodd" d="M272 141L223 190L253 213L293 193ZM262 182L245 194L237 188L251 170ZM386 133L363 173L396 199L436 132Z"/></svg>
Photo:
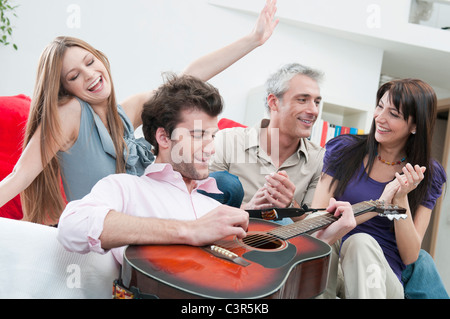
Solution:
<svg viewBox="0 0 450 319"><path fill-rule="evenodd" d="M207 193L201 190L198 192L214 198L222 204L240 208L244 199L244 188L239 178L227 171L212 172L209 176L216 179L217 187L223 194Z"/></svg>

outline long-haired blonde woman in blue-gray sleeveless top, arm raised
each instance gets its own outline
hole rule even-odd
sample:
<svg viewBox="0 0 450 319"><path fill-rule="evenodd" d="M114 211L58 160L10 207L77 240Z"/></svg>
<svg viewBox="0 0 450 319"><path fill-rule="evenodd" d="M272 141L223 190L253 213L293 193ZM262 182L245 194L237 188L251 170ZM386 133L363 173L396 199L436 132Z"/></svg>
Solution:
<svg viewBox="0 0 450 319"><path fill-rule="evenodd" d="M191 63L184 71L207 81L264 44L278 20L267 0L247 36ZM150 144L134 138L152 91L118 104L107 57L88 43L58 37L43 51L24 150L0 182L0 207L21 193L24 220L54 224L67 200L87 194L113 173L141 174L152 163Z"/></svg>

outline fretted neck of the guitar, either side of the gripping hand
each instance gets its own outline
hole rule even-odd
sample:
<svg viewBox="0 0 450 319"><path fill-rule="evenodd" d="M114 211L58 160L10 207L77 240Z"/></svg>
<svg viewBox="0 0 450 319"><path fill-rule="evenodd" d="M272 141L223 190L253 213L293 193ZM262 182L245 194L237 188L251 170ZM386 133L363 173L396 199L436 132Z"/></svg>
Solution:
<svg viewBox="0 0 450 319"><path fill-rule="evenodd" d="M369 202L360 202L352 205L353 213L356 216L371 212L376 205ZM276 227L269 233L281 239L289 239L302 234L311 234L337 221L339 217L335 217L332 213L326 213L311 218L299 220L293 224Z"/></svg>

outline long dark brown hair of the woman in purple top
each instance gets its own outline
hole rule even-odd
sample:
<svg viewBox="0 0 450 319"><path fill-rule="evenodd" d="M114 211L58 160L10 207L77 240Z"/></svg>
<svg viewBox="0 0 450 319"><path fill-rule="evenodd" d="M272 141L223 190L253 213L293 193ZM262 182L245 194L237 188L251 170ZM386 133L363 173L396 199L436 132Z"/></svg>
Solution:
<svg viewBox="0 0 450 319"><path fill-rule="evenodd" d="M408 120L411 116L411 120L416 124L416 134L410 134L405 146L408 162L427 168L424 180L408 194L411 213L414 216L425 198L433 176L431 140L437 115L437 98L430 85L417 79L394 80L383 84L377 92L377 105L387 92L392 104L403 113L404 119ZM378 151L375 120L368 135L347 135L343 138L348 138L351 142L342 154L337 156L337 161L327 168L335 172L331 185L337 183L334 194L337 197L344 193L347 184L355 175L355 168L361 165L366 155L368 155L366 167L368 174L372 170Z"/></svg>

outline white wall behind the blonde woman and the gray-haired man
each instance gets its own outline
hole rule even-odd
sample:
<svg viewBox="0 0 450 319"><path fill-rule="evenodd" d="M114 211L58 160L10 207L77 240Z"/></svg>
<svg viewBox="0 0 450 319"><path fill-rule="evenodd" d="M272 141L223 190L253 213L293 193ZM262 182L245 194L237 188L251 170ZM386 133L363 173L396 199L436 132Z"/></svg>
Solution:
<svg viewBox="0 0 450 319"><path fill-rule="evenodd" d="M207 0L15 3L19 8L13 40L19 50L0 47L0 95L32 95L39 55L58 35L80 37L109 57L121 100L157 87L162 71L181 71L193 59L243 36L256 21L256 14L224 9ZM254 11L264 3L254 1ZM282 3L279 6L282 10ZM244 122L248 91L292 61L326 72L323 93L330 102L372 107L380 49L281 23L268 43L211 80L224 96L223 116Z"/></svg>

